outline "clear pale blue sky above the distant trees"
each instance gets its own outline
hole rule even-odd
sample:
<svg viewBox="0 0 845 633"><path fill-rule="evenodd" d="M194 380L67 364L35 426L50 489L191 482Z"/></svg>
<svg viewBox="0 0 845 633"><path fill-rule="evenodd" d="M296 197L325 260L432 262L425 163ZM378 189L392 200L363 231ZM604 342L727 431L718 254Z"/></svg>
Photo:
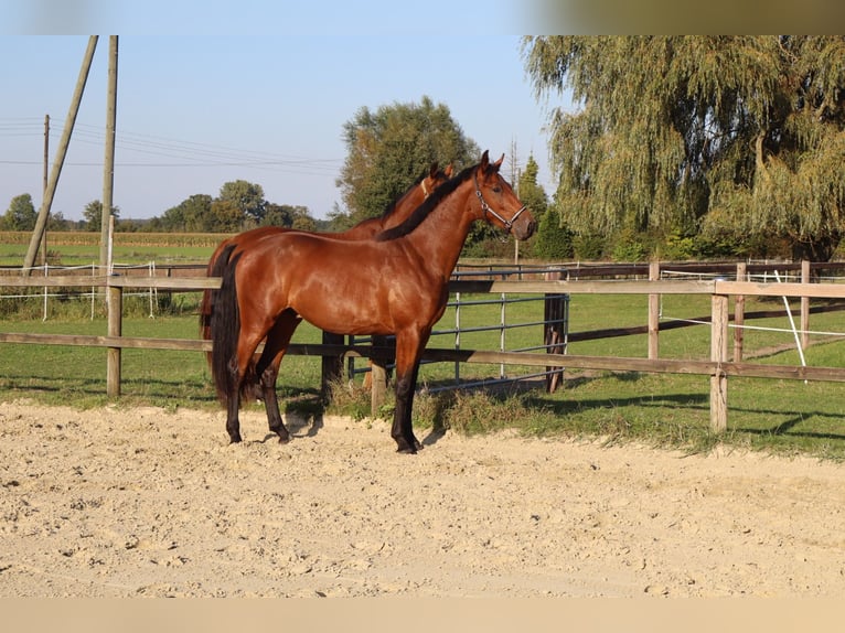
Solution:
<svg viewBox="0 0 845 633"><path fill-rule="evenodd" d="M343 125L364 106L418 103L422 96L448 106L482 150L510 154L513 142L520 165L533 154L541 184L552 193L544 126L549 107L563 101L536 101L520 36L495 29L415 33L438 15L425 4L396 4L394 19L419 29L367 34L375 29L366 20L355 29L334 13L328 33L296 34L285 28L290 15L279 11L281 4L253 13L250 35L211 35L211 28L196 23L188 31L206 33L168 34L189 20L175 10L159 14L167 17L161 35L132 34L132 25L154 25L130 23L119 37L114 200L120 216L161 215L192 194L217 195L223 183L243 179L260 184L270 202L324 217L342 203L334 182L346 154ZM447 22L454 24L462 12ZM355 20L361 23L361 14ZM268 21L280 30L269 32ZM87 41L0 35L0 55L15 61L0 67L0 212L22 193L41 204L44 115L51 117L52 165ZM103 195L107 67L108 36L100 36L53 203L65 218L81 218L85 205Z"/></svg>

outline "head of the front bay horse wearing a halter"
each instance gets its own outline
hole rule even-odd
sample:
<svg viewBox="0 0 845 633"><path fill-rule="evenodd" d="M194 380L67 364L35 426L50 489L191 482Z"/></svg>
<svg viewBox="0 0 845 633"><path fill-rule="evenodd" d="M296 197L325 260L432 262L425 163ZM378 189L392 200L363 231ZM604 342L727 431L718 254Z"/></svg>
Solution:
<svg viewBox="0 0 845 633"><path fill-rule="evenodd" d="M513 233L516 239L527 239L534 233L537 223L499 173L502 161L504 154L491 163L485 150L475 170L475 196L481 205L481 216L493 226Z"/></svg>

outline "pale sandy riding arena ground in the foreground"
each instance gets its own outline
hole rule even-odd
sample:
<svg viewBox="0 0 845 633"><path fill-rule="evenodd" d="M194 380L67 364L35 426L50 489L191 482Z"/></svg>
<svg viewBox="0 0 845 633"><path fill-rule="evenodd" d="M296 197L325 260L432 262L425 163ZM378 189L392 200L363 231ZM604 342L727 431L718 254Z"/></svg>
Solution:
<svg viewBox="0 0 845 633"><path fill-rule="evenodd" d="M290 427L0 404L0 597L845 596L844 465Z"/></svg>

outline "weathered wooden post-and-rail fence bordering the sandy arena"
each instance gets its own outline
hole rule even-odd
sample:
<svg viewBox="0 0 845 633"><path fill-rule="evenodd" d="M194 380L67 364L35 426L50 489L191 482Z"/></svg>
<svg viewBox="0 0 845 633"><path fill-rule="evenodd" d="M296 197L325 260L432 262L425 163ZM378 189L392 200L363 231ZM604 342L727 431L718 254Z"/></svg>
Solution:
<svg viewBox="0 0 845 633"><path fill-rule="evenodd" d="M742 265L740 265L742 266ZM806 267L809 271L809 267ZM659 267L652 268L652 277ZM739 276L738 279L742 279ZM120 352L124 348L207 351L211 342L183 339L147 339L121 335L122 292L126 288L154 288L178 292L217 288L220 279L193 278L139 278L124 276L98 277L0 277L0 287L84 287L104 288L108 301L108 330L106 336L77 336L57 334L0 333L0 343L35 343L50 345L88 345L107 347L107 393L120 394ZM731 281L720 278L708 280L495 280L477 279L450 282L450 291L464 293L599 293L599 294L646 294L650 297L649 357L584 356L559 353L490 352L481 350L428 348L425 358L430 361L517 364L539 367L565 367L585 369L608 369L616 372L697 374L710 380L710 427L720 432L727 428L728 376L753 378L780 378L800 380L845 382L845 368L806 367L792 365L762 365L741 362L741 356L728 360L729 298L737 297L790 297L843 299L845 285L807 282L750 282ZM655 305L661 294L709 294L710 296L710 354L709 360L662 360L659 357L659 316ZM738 305L741 305L741 301ZM803 310L802 310L803 313ZM735 318L740 320L738 313ZM735 344L735 354L736 354ZM741 350L741 347L740 347ZM377 356L383 350L361 345L296 344L290 354L339 356L353 354Z"/></svg>

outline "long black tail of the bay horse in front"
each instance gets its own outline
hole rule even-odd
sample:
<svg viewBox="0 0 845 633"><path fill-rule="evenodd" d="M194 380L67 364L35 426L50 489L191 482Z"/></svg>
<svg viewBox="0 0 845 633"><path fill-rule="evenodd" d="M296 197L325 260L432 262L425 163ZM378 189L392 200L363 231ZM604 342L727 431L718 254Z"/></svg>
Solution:
<svg viewBox="0 0 845 633"><path fill-rule="evenodd" d="M235 246L227 247L214 262L214 276L222 277L220 290L212 293L211 371L217 398L225 406L229 397L238 397L236 384L237 372L233 372L237 363L237 341L240 334L240 311L237 307L237 288L235 285L235 268L240 256L229 260Z"/></svg>

